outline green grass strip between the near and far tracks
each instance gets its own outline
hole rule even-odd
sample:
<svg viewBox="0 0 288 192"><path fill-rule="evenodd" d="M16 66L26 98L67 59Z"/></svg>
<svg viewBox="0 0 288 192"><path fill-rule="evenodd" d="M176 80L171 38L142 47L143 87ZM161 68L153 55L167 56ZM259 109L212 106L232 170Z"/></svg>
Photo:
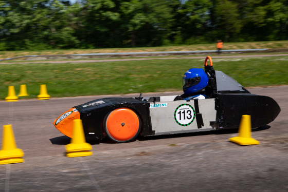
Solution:
<svg viewBox="0 0 288 192"><path fill-rule="evenodd" d="M287 61L287 56L213 59L213 66L244 87L287 85ZM0 65L0 99L7 97L8 86L18 94L22 84L27 98L37 97L41 84L51 97L181 91L182 75L203 65L203 59L5 64Z"/></svg>

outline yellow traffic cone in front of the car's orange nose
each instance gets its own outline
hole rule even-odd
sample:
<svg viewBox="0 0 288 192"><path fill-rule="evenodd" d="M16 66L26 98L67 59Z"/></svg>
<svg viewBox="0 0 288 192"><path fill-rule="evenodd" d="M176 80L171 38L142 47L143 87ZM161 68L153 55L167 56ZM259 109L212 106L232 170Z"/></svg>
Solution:
<svg viewBox="0 0 288 192"><path fill-rule="evenodd" d="M91 156L92 146L86 143L81 119L73 120L73 138L71 143L65 145L67 157Z"/></svg>

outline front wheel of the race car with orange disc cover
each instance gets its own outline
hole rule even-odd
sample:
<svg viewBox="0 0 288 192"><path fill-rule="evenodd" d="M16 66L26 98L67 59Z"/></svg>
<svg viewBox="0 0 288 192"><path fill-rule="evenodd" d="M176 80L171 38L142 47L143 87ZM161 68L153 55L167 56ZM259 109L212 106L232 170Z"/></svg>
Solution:
<svg viewBox="0 0 288 192"><path fill-rule="evenodd" d="M104 120L104 131L112 141L118 143L134 140L141 129L138 115L129 108L111 111Z"/></svg>

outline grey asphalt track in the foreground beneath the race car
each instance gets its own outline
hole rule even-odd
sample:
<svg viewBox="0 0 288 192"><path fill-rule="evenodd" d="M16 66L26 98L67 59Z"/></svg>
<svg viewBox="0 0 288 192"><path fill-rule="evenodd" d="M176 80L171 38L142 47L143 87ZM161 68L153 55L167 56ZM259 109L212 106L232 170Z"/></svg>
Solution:
<svg viewBox="0 0 288 192"><path fill-rule="evenodd" d="M0 165L0 191L288 191L288 86L248 90L281 107L274 122L251 133L260 145L229 142L237 130L210 131L91 142L93 155L77 158L65 156L70 140L53 120L70 107L111 95L0 101L1 127L12 124L25 152L23 163ZM164 94L179 93L145 95Z"/></svg>

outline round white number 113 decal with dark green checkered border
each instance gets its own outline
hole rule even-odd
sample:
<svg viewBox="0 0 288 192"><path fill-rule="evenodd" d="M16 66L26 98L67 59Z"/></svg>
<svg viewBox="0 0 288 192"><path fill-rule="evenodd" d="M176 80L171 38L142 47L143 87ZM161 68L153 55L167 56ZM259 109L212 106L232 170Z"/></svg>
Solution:
<svg viewBox="0 0 288 192"><path fill-rule="evenodd" d="M178 125L188 126L195 119L195 110L189 104L179 105L174 112L174 119Z"/></svg>

